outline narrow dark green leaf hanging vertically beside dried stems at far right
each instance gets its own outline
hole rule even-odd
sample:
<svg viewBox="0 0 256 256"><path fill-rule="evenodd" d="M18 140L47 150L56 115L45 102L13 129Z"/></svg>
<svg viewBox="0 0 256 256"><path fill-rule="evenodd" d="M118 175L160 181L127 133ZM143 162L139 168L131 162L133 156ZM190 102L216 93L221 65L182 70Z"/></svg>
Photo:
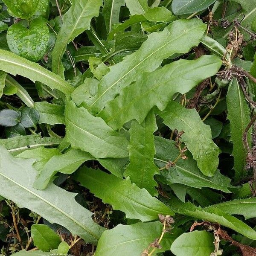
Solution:
<svg viewBox="0 0 256 256"><path fill-rule="evenodd" d="M243 144L244 130L250 122L250 108L244 98L237 79L230 82L227 92L227 118L230 120L231 138L233 142L232 155L234 157L235 180L246 177L245 169L247 152ZM248 143L251 144L251 129L248 132Z"/></svg>

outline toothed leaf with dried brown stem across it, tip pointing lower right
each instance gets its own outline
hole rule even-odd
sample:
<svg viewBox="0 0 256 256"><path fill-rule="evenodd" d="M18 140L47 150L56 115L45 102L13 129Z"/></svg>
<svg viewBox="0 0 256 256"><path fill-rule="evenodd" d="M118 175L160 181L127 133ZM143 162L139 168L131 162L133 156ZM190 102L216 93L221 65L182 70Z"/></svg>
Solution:
<svg viewBox="0 0 256 256"><path fill-rule="evenodd" d="M174 161L180 154L173 140L155 137L155 146L157 153L154 159L159 168L166 166L168 161ZM187 156L188 159L177 160L175 166L172 166L169 170L162 170L161 182L169 185L179 183L198 189L209 187L226 193L230 193L229 188L234 188L230 185L230 178L221 175L219 171L216 171L213 177L204 176L191 154L187 154Z"/></svg>

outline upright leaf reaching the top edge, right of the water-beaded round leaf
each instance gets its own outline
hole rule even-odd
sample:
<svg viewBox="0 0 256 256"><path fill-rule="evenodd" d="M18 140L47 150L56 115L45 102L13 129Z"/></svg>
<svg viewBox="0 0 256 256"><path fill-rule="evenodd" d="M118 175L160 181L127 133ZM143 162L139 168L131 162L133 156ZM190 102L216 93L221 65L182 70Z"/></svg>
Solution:
<svg viewBox="0 0 256 256"><path fill-rule="evenodd" d="M63 25L52 51L52 72L64 78L61 58L67 49L67 44L84 30L90 29L90 21L99 15L100 6L102 0L73 0L71 8L63 16Z"/></svg>

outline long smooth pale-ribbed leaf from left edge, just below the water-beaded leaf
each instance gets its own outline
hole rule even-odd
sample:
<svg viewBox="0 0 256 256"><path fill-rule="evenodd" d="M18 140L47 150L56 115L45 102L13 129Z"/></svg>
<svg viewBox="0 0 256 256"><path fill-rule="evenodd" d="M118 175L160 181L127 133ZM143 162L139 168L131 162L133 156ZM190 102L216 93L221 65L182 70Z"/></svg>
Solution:
<svg viewBox="0 0 256 256"><path fill-rule="evenodd" d="M0 49L0 70L11 73L14 76L20 75L27 77L33 82L40 81L48 85L52 90L57 89L67 95L70 95L74 90L69 83L61 79L56 74L36 63L2 49Z"/></svg>

